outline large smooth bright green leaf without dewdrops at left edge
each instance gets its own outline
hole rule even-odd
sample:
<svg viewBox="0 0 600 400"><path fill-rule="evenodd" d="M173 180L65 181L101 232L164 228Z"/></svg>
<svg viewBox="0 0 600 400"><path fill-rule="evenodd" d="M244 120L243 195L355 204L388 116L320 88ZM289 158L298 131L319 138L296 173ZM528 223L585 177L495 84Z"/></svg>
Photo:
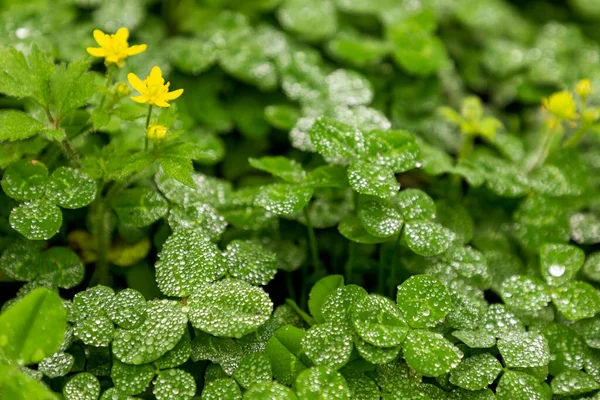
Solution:
<svg viewBox="0 0 600 400"><path fill-rule="evenodd" d="M0 314L0 351L18 365L38 363L59 349L66 329L58 294L38 288Z"/></svg>

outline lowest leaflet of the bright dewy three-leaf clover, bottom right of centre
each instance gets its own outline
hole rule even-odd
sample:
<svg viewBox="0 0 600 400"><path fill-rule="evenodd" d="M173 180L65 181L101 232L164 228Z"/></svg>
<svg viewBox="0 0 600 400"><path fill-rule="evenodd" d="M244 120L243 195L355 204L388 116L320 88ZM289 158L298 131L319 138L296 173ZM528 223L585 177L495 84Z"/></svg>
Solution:
<svg viewBox="0 0 600 400"><path fill-rule="evenodd" d="M439 376L455 368L463 357L458 348L439 333L414 330L402 346L408 365L424 376Z"/></svg>

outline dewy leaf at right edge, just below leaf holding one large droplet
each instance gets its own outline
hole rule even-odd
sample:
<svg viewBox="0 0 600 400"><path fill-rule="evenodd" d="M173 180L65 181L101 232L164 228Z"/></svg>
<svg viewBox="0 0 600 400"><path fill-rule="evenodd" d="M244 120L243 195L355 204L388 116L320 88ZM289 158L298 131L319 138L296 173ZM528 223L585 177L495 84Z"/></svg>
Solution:
<svg viewBox="0 0 600 400"><path fill-rule="evenodd" d="M568 282L552 291L552 301L571 321L591 318L600 311L600 295L585 282Z"/></svg>

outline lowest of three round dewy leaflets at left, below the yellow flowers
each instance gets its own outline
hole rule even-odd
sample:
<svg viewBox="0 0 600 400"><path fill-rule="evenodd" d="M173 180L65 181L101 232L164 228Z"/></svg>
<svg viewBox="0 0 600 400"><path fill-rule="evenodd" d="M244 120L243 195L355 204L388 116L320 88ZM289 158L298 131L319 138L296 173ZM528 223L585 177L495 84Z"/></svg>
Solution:
<svg viewBox="0 0 600 400"><path fill-rule="evenodd" d="M21 204L10 213L10 226L30 240L47 240L62 225L60 209L47 199L36 199Z"/></svg>

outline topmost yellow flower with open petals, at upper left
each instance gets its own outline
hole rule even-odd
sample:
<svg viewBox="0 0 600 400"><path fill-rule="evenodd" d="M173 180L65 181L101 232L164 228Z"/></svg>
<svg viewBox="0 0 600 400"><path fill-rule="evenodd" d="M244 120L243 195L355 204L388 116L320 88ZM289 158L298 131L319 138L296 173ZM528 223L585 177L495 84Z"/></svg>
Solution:
<svg viewBox="0 0 600 400"><path fill-rule="evenodd" d="M114 63L122 67L127 57L140 54L147 47L145 44L129 47L128 38L129 30L127 28L120 28L114 35L107 35L101 30L95 29L94 39L100 47L88 47L87 52L94 57L104 57L106 63Z"/></svg>

